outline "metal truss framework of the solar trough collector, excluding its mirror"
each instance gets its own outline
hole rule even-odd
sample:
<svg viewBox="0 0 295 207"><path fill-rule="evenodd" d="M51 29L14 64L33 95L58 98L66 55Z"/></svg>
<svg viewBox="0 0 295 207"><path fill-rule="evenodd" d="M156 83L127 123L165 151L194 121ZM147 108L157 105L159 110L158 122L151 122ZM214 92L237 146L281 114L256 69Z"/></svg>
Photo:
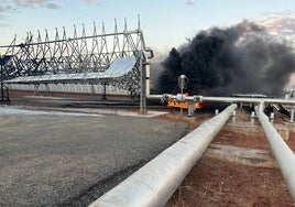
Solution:
<svg viewBox="0 0 295 207"><path fill-rule="evenodd" d="M77 35L75 25L72 37L67 36L65 28L62 33L56 29L54 40L50 40L47 30L45 30L44 37L37 31L36 39L28 32L24 43L17 44L15 35L10 45L0 46L0 48L6 50L4 55L0 56L1 81L20 76L56 75L54 83L76 83L68 78L62 81L58 75L103 73L117 58L135 57L136 64L132 73L122 77L84 79L77 83L113 85L128 89L131 94L144 94L145 79L149 79L145 77L145 65L149 65L149 58L153 56L152 51L145 46L140 20L136 30L128 30L127 21L124 21L122 32L118 31L114 20L113 33L106 33L103 23L101 34L97 33L96 23L94 23L91 35L86 35L84 24L80 36ZM28 80L22 84L46 83L35 79L34 83Z"/></svg>

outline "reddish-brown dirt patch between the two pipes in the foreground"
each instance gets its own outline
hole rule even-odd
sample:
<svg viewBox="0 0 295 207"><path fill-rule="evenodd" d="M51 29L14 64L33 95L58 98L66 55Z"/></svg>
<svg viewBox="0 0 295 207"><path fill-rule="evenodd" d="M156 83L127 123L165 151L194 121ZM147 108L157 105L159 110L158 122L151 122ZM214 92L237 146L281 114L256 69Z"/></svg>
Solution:
<svg viewBox="0 0 295 207"><path fill-rule="evenodd" d="M166 207L294 206L277 168L200 159Z"/></svg>

